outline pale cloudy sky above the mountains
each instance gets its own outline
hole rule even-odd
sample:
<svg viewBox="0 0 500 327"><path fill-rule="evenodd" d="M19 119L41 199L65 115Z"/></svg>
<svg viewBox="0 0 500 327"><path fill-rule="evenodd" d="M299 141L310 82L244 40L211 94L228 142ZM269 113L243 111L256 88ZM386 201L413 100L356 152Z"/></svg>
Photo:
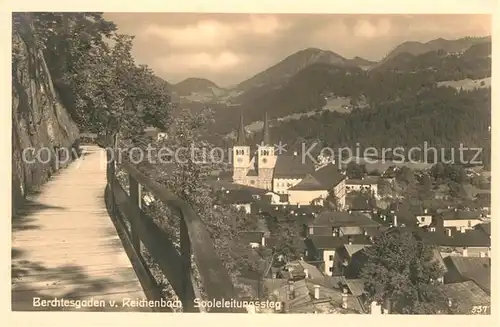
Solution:
<svg viewBox="0 0 500 327"><path fill-rule="evenodd" d="M305 48L380 60L405 41L491 35L488 15L107 13L133 55L170 83L236 85Z"/></svg>

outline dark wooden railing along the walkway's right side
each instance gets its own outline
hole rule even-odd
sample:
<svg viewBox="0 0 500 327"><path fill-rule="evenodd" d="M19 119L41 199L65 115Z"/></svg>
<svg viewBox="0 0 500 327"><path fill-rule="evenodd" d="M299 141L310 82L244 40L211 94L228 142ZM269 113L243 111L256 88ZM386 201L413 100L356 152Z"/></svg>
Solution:
<svg viewBox="0 0 500 327"><path fill-rule="evenodd" d="M191 271L194 257L201 277L206 300L236 299L235 290L228 271L215 252L205 224L193 208L159 183L152 181L130 162L120 162L120 168L128 175L129 193L120 185L116 175L116 162L107 154L106 201L115 220L126 229L123 237L130 243L129 252L136 258L134 268L143 285L146 296L159 300L162 294L152 278L142 255L144 246L154 262L167 278L182 302L184 312L197 312L195 307L195 285ZM167 234L142 210L142 191L147 189L155 199L162 201L180 218L180 251ZM130 226L130 228L128 227ZM180 252L180 253L179 253ZM134 260L133 260L134 261ZM211 308L210 312L241 312L229 308Z"/></svg>

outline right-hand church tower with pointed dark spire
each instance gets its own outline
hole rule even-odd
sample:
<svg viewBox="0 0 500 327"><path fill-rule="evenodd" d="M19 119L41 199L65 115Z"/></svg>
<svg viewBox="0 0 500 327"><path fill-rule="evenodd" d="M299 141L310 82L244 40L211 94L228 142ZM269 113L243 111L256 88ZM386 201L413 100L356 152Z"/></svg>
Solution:
<svg viewBox="0 0 500 327"><path fill-rule="evenodd" d="M264 128L262 134L262 142L257 150L257 172L259 174L259 186L264 189L271 190L273 184L273 172L276 165L276 155L274 146L271 144L269 135L269 121L267 112L264 118Z"/></svg>

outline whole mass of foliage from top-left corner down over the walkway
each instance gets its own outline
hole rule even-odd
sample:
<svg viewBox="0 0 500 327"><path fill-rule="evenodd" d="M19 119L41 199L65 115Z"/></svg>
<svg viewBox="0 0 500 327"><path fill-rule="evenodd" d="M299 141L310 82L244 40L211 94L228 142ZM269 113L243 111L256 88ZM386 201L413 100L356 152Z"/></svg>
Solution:
<svg viewBox="0 0 500 327"><path fill-rule="evenodd" d="M14 16L32 24L55 88L80 129L138 138L146 125L164 128L172 105L165 85L131 54L133 37L117 33L102 13L33 13ZM111 144L109 144L111 145Z"/></svg>

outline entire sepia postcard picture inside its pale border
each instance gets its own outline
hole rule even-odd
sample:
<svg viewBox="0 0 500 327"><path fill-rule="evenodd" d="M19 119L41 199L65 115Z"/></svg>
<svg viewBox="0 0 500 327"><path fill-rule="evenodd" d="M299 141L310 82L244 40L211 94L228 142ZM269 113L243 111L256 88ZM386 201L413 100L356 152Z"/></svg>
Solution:
<svg viewBox="0 0 500 327"><path fill-rule="evenodd" d="M9 13L12 314L493 315L492 15L216 12Z"/></svg>

